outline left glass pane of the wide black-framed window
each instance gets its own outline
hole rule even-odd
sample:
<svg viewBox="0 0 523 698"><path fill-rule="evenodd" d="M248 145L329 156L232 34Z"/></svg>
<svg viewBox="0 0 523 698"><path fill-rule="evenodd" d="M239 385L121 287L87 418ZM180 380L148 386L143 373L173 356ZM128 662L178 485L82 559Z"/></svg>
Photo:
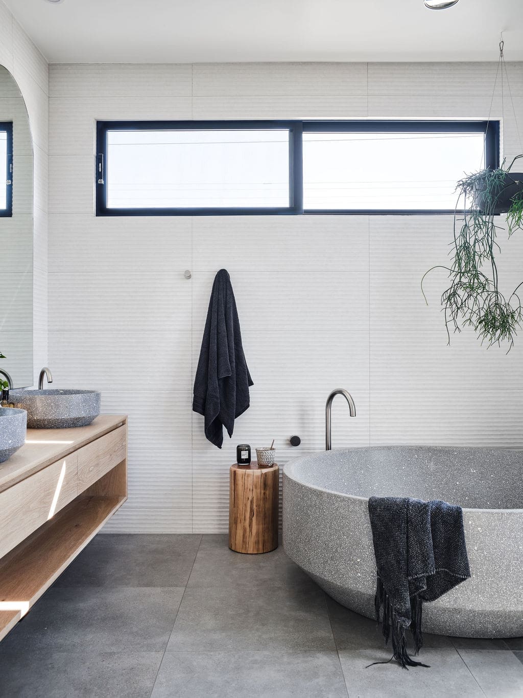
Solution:
<svg viewBox="0 0 523 698"><path fill-rule="evenodd" d="M288 207L289 131L108 131L108 208Z"/></svg>

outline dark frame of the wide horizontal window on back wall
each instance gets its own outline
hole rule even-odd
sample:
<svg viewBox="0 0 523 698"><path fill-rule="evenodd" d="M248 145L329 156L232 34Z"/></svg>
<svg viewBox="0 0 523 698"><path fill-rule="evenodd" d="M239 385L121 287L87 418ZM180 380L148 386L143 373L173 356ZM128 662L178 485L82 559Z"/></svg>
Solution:
<svg viewBox="0 0 523 698"><path fill-rule="evenodd" d="M289 206L237 208L108 208L107 131L285 129L289 130ZM402 216L448 215L454 209L303 209L303 133L484 133L485 166L499 167L499 121L97 121L96 122L96 215L97 216Z"/></svg>

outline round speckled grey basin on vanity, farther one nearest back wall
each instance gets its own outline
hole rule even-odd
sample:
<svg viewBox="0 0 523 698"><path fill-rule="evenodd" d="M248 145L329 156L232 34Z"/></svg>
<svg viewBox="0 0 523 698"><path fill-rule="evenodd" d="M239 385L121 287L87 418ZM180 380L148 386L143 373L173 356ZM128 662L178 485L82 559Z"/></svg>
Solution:
<svg viewBox="0 0 523 698"><path fill-rule="evenodd" d="M27 410L29 429L87 426L100 414L100 393L94 390L12 390L9 398Z"/></svg>

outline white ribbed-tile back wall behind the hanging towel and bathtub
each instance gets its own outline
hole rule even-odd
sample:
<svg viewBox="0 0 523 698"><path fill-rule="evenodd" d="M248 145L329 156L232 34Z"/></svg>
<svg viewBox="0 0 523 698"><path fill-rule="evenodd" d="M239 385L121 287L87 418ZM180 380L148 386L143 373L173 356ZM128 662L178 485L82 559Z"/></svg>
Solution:
<svg viewBox="0 0 523 698"><path fill-rule="evenodd" d="M335 402L334 447L522 446L523 337L508 355L470 332L447 346L445 274L427 281L428 307L420 278L446 262L449 216L94 217L96 119L484 119L495 69L50 66L50 366L58 385L101 389L103 410L130 415L130 497L105 530L227 530L236 444L275 438L280 463L322 450L335 387L349 389L358 415ZM523 121L523 66L509 70ZM504 131L506 153L520 151L511 115ZM523 279L522 260L521 236L503 242L508 286ZM219 451L191 413L191 389L221 267L255 386Z"/></svg>

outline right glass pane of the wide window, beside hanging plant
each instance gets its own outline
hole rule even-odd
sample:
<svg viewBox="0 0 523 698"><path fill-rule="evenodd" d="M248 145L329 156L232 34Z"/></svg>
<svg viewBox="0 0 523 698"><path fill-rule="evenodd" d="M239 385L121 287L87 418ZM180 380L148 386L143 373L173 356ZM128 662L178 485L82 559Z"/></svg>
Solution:
<svg viewBox="0 0 523 698"><path fill-rule="evenodd" d="M483 133L303 133L304 209L454 209Z"/></svg>

